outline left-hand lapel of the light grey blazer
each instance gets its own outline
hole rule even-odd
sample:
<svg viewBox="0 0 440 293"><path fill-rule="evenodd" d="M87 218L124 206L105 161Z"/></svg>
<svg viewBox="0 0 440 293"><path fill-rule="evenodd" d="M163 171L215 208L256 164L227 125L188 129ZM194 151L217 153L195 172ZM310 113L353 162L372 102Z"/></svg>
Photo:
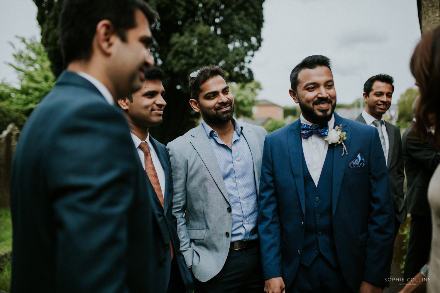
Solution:
<svg viewBox="0 0 440 293"><path fill-rule="evenodd" d="M223 176L220 172L219 164L217 163L216 155L214 153L213 147L209 142L209 138L206 136L205 129L203 128L202 123L198 127L194 129L191 133L193 137L190 142L193 145L194 149L202 159L203 163L208 169L209 174L214 179L214 182L217 184L217 187L220 189L224 198L229 202L229 195L227 194L226 186L224 185Z"/></svg>

